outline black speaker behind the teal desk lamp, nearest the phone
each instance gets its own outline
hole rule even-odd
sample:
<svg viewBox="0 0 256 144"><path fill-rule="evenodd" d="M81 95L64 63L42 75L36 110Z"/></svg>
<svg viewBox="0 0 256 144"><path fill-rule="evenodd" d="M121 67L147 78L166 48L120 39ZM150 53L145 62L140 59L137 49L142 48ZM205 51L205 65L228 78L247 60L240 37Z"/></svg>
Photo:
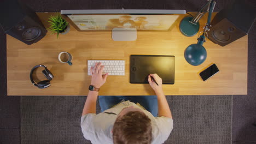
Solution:
<svg viewBox="0 0 256 144"><path fill-rule="evenodd" d="M208 39L221 46L228 45L248 34L255 17L255 8L246 4L245 1L236 0L214 17Z"/></svg>

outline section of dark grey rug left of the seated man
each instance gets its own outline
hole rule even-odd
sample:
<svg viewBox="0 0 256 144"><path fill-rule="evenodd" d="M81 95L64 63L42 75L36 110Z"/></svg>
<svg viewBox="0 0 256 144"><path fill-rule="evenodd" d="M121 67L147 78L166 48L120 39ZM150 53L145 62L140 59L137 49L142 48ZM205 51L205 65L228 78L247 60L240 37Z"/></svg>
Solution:
<svg viewBox="0 0 256 144"><path fill-rule="evenodd" d="M21 143L90 143L80 129L86 97L22 97Z"/></svg>

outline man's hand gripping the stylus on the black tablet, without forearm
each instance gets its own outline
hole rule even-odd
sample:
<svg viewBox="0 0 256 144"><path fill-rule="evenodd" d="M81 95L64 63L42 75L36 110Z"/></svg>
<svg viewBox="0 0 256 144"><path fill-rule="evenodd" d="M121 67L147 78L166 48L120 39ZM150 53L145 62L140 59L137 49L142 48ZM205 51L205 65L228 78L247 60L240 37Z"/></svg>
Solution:
<svg viewBox="0 0 256 144"><path fill-rule="evenodd" d="M152 79L151 76L158 83L158 85L156 85L156 83L154 82L154 80ZM149 74L148 75L148 82L149 82L149 85L154 89L155 93L162 92L162 79L157 74Z"/></svg>

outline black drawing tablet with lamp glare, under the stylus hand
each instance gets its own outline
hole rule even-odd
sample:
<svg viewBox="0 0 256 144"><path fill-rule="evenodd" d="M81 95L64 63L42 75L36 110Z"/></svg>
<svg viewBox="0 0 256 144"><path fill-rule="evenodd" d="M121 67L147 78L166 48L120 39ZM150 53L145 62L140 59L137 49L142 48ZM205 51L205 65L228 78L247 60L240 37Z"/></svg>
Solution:
<svg viewBox="0 0 256 144"><path fill-rule="evenodd" d="M174 84L175 57L131 55L130 83L148 83L148 74L158 74L163 84Z"/></svg>

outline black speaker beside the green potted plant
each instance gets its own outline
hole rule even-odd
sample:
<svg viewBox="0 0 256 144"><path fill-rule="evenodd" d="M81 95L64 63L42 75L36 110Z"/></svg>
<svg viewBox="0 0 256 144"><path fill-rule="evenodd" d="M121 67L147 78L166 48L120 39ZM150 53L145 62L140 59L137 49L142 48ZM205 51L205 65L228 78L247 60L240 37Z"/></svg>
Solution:
<svg viewBox="0 0 256 144"><path fill-rule="evenodd" d="M0 1L0 26L5 33L28 45L47 33L36 13L17 0Z"/></svg>

